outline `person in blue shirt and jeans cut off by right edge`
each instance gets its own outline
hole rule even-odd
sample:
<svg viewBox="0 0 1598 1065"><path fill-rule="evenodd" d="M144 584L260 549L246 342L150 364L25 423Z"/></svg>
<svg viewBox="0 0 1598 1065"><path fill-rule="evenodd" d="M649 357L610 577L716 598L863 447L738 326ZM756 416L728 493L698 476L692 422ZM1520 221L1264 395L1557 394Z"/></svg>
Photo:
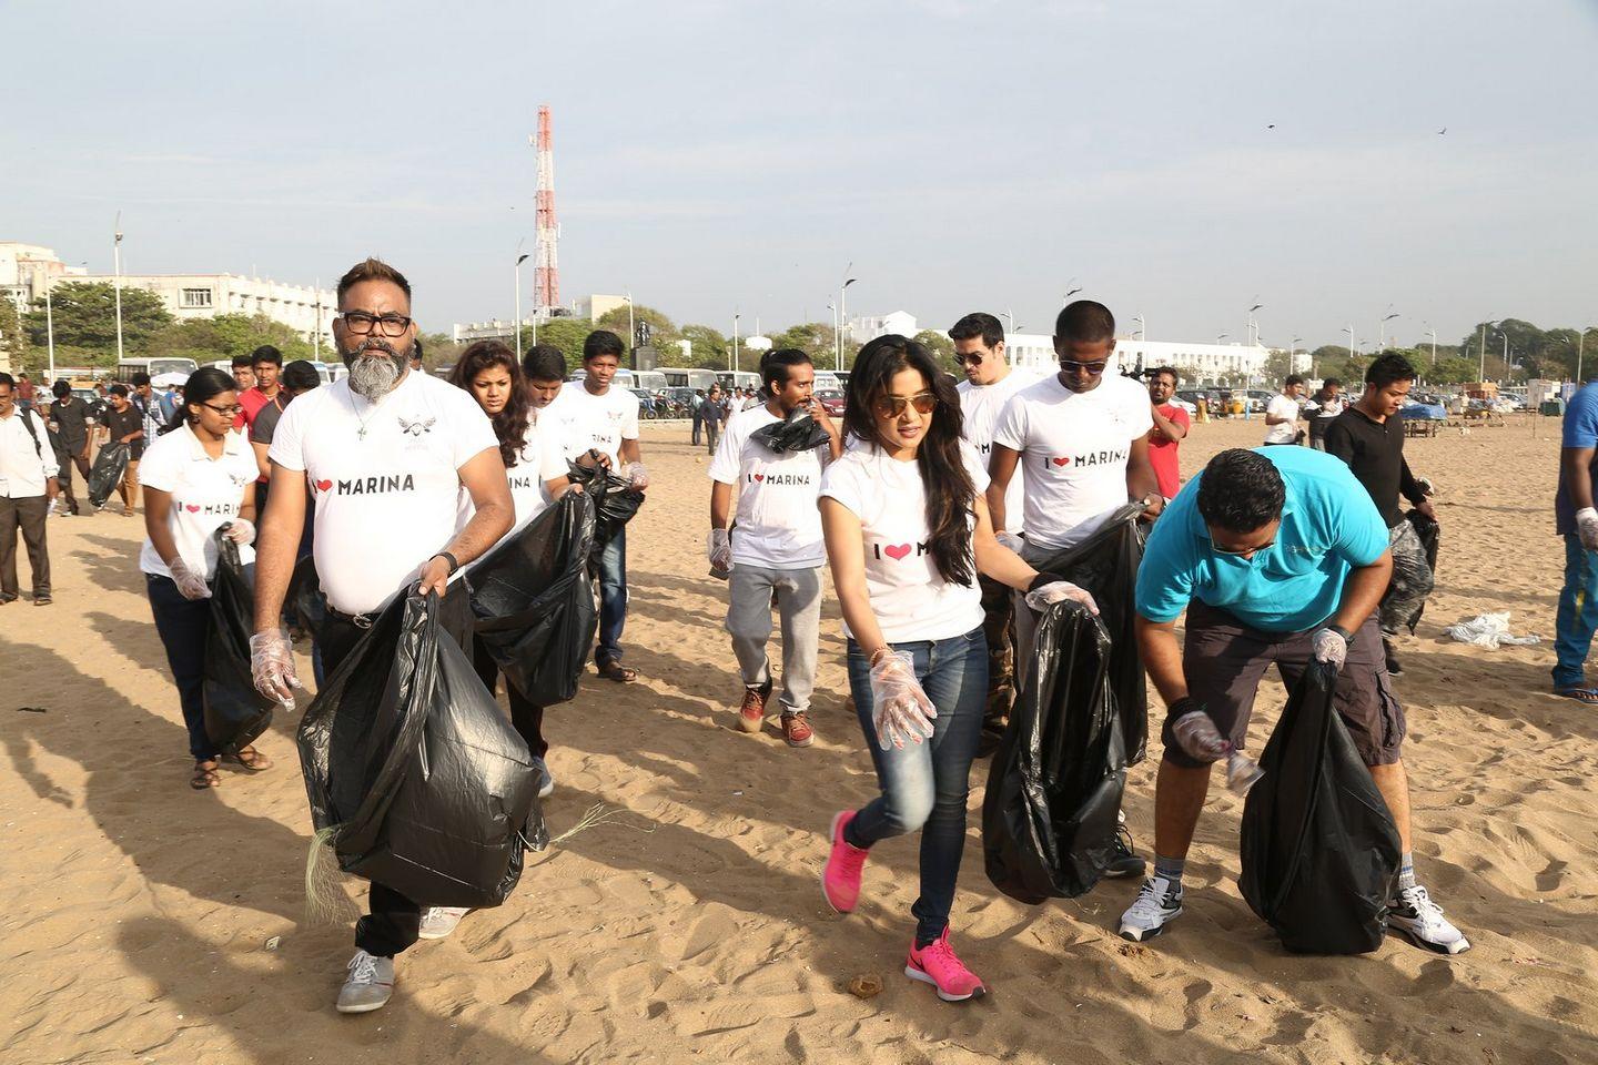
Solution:
<svg viewBox="0 0 1598 1065"><path fill-rule="evenodd" d="M1587 382L1564 409L1560 489L1553 497L1553 529L1564 538L1564 588L1555 615L1553 690L1598 706L1587 687L1587 651L1598 631L1598 382Z"/></svg>

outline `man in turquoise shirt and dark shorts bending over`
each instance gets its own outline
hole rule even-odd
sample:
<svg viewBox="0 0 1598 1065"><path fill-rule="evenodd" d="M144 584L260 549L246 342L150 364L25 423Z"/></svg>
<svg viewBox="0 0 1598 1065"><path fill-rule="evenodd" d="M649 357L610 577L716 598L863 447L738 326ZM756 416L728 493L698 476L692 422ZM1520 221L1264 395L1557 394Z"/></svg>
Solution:
<svg viewBox="0 0 1598 1065"><path fill-rule="evenodd" d="M1254 693L1275 663L1290 688L1312 664L1338 674L1334 704L1403 843L1389 926L1438 953L1470 942L1416 881L1403 707L1376 607L1392 576L1387 524L1333 455L1232 449L1171 500L1138 570L1138 645L1167 717L1154 792L1154 875L1120 918L1144 940L1183 912L1183 865L1210 765L1242 749ZM1187 612L1186 643L1175 623Z"/></svg>

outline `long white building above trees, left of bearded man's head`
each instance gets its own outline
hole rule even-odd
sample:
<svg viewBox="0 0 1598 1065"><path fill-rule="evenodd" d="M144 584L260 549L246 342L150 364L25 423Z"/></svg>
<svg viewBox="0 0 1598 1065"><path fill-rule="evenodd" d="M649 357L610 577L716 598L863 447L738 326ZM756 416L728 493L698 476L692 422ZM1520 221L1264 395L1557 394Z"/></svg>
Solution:
<svg viewBox="0 0 1598 1065"><path fill-rule="evenodd" d="M75 276L72 281L115 284L109 273ZM59 283L58 283L59 284ZM123 289L153 292L177 321L217 318L219 315L265 315L283 323L305 340L312 340L318 324L321 335L332 334L332 318L339 297L332 289L283 284L264 278L241 278L235 273L125 273Z"/></svg>

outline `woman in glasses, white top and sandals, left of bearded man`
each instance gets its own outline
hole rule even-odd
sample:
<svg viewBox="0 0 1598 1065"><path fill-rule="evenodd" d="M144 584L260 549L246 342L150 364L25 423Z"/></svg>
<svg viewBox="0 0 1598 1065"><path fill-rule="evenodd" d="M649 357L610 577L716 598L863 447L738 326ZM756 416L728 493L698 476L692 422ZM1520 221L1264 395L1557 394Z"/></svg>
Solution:
<svg viewBox="0 0 1598 1065"><path fill-rule="evenodd" d="M195 370L184 386L184 404L144 449L139 481L144 484L144 529L139 551L155 631L166 647L177 699L189 728L189 754L195 760L189 786L216 787L219 752L205 731L205 640L211 620L208 581L216 576L217 529L238 544L240 557L254 560L256 477L259 468L249 442L233 433L240 412L238 383L216 367ZM221 755L251 773L272 766L267 755L248 746Z"/></svg>

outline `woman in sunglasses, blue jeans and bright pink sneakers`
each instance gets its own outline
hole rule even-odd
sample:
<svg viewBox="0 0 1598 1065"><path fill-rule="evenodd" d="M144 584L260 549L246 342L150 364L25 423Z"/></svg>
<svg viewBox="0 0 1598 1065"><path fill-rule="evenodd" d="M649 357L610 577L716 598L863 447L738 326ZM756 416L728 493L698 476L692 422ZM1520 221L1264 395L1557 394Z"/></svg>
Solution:
<svg viewBox="0 0 1598 1065"><path fill-rule="evenodd" d="M988 473L960 439L954 380L925 346L877 337L849 378L855 447L821 477L821 525L849 637L849 683L882 794L833 819L821 886L849 913L871 846L920 829L920 897L904 976L944 1001L986 992L949 945L965 798L988 696L983 573L1029 602L1091 597L1000 546Z"/></svg>

